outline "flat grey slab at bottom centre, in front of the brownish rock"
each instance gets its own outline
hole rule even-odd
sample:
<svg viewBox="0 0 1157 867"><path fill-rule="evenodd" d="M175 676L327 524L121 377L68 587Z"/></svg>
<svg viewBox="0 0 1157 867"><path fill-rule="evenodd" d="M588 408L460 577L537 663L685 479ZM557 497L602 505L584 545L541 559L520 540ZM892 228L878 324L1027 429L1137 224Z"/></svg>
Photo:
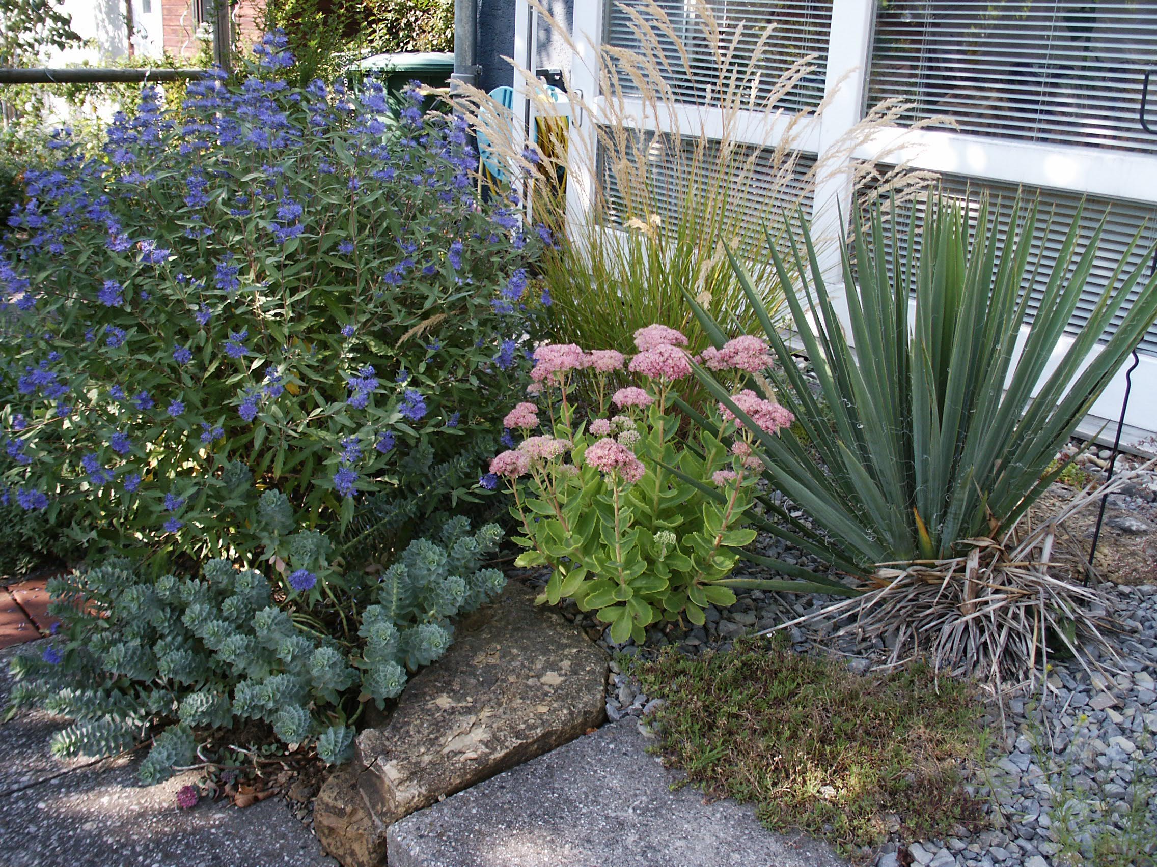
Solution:
<svg viewBox="0 0 1157 867"><path fill-rule="evenodd" d="M622 720L414 813L388 831L390 867L847 867L751 806L672 791L650 742Z"/></svg>

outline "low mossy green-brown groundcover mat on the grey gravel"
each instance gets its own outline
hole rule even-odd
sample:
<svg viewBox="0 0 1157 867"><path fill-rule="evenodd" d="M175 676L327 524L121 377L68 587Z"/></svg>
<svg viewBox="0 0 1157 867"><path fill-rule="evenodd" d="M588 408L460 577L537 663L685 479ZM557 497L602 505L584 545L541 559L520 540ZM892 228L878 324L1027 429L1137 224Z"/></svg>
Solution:
<svg viewBox="0 0 1157 867"><path fill-rule="evenodd" d="M700 658L669 651L634 674L665 702L664 756L706 793L754 802L772 830L858 859L897 822L906 839L927 839L982 815L963 785L982 756L982 710L968 687L926 668L861 676L757 638Z"/></svg>

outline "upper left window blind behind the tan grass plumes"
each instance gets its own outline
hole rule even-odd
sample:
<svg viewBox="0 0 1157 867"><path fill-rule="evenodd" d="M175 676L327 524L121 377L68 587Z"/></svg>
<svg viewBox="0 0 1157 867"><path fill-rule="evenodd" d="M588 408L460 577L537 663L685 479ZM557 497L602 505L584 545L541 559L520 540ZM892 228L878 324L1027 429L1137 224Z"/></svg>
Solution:
<svg viewBox="0 0 1157 867"><path fill-rule="evenodd" d="M708 0L713 36L694 0L657 0L662 14L642 0L606 0L603 43L656 59L676 98L693 105L717 102L737 88L765 99L780 77L806 58L815 67L776 102L784 111L815 109L824 97L831 0ZM639 16L643 22L640 27ZM771 38L762 44L768 24ZM647 43L654 37L654 43ZM680 51L681 47L681 51ZM624 81L626 92L638 92Z"/></svg>

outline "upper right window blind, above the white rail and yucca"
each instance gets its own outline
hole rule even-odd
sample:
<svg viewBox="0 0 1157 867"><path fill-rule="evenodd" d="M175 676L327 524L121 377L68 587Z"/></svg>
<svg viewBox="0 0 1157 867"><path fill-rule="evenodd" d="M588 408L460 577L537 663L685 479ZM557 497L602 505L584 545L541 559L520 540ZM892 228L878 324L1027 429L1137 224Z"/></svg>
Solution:
<svg viewBox="0 0 1157 867"><path fill-rule="evenodd" d="M1152 0L879 0L868 99L966 133L1157 154L1140 117L1154 67Z"/></svg>

